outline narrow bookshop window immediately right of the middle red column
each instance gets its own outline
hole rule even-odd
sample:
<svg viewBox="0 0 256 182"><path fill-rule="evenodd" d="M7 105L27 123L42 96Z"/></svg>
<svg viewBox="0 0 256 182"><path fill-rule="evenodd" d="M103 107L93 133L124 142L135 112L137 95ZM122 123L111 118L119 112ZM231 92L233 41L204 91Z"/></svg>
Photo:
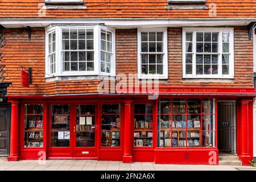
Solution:
<svg viewBox="0 0 256 182"><path fill-rule="evenodd" d="M153 146L153 106L134 105L134 147Z"/></svg>

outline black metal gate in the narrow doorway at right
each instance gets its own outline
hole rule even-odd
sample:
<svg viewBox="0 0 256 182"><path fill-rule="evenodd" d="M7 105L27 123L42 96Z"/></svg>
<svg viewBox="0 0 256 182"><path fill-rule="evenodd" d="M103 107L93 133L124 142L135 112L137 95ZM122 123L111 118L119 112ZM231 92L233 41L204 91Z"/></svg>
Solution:
<svg viewBox="0 0 256 182"><path fill-rule="evenodd" d="M218 150L237 153L236 102L218 102Z"/></svg>

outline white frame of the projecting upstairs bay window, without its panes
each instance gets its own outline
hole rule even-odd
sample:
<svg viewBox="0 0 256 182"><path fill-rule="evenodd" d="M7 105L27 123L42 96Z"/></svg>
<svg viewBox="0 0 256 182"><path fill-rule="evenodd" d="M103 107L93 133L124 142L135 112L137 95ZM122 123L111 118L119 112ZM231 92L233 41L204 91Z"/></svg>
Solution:
<svg viewBox="0 0 256 182"><path fill-rule="evenodd" d="M91 28L93 29L93 50L94 50L94 71L63 71L63 61L61 61L62 51L62 30L63 29L76 29L76 28ZM100 69L100 49L101 49L101 30L112 32L112 61L113 67L110 69L110 73L101 72ZM48 34L55 31L56 33L56 67L55 73L50 73L49 60L48 60ZM111 27L105 27L100 25L90 26L48 26L46 27L46 74L45 77L56 77L56 76L115 76L115 29Z"/></svg>

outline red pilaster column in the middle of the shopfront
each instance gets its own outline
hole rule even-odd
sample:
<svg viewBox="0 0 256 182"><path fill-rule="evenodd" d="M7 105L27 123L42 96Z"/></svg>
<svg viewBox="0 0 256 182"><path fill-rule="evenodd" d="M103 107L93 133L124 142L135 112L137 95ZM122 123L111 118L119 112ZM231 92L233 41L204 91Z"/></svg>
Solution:
<svg viewBox="0 0 256 182"><path fill-rule="evenodd" d="M123 163L131 163L131 100L125 100L125 119L123 132Z"/></svg>

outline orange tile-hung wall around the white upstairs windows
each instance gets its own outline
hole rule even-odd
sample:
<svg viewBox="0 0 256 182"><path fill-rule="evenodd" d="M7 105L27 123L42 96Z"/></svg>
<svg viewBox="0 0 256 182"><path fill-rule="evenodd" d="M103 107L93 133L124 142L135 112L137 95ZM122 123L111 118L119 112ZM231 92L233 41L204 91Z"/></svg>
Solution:
<svg viewBox="0 0 256 182"><path fill-rule="evenodd" d="M235 79L233 82L186 82L182 79L181 28L168 28L168 82L160 86L253 87L253 41L247 38L247 27L234 28ZM12 82L9 95L74 94L97 92L99 80L46 82L44 28L6 29L1 65L5 82ZM20 86L20 65L32 67L30 88ZM116 30L116 73L137 73L137 30Z"/></svg>

